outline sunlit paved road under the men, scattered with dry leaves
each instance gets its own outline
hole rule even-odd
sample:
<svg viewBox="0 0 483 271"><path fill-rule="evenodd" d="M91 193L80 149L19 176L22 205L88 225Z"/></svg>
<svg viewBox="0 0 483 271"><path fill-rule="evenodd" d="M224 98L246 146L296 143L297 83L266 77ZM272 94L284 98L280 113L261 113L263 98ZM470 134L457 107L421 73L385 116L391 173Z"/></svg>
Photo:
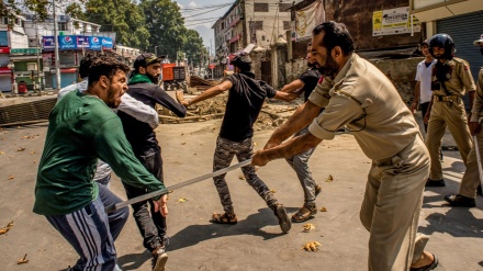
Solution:
<svg viewBox="0 0 483 271"><path fill-rule="evenodd" d="M175 184L210 172L220 120L171 124L158 127L166 181ZM65 270L77 260L75 251L43 216L32 213L37 162L46 134L45 125L0 131L0 227L14 221L0 235L1 270ZM256 148L261 148L271 131L257 132ZM450 140L450 139L448 139ZM22 151L21 148L25 148ZM221 212L211 180L175 191L169 201L168 234L171 236L168 270L367 270L369 234L359 222L370 160L350 135L324 142L310 162L323 192L317 206L326 207L310 223L315 229L303 233L301 224L283 235L276 217L255 191L240 180L240 170L228 173L235 212L239 223L213 225L209 218ZM464 167L457 151L445 151L446 188L425 193L420 232L430 235L428 249L440 259L438 271L483 270L483 199L476 208L450 208L442 195L457 191ZM283 160L258 171L290 213L303 201L294 172ZM332 174L333 182L325 182ZM13 177L10 179L9 177ZM10 180L9 180L10 179ZM117 178L112 189L125 199ZM187 199L179 202L179 199ZM303 244L316 240L319 251L305 252ZM116 248L123 270L150 270L149 253L131 217ZM16 260L27 253L29 263Z"/></svg>

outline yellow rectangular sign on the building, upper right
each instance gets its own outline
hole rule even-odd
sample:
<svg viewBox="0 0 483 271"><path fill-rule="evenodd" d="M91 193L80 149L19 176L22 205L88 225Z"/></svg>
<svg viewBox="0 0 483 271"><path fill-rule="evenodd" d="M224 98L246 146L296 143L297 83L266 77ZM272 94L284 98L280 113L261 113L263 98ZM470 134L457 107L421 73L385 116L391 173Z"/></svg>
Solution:
<svg viewBox="0 0 483 271"><path fill-rule="evenodd" d="M372 13L372 36L385 36L420 32L420 22L413 16L411 25L409 7L378 10Z"/></svg>

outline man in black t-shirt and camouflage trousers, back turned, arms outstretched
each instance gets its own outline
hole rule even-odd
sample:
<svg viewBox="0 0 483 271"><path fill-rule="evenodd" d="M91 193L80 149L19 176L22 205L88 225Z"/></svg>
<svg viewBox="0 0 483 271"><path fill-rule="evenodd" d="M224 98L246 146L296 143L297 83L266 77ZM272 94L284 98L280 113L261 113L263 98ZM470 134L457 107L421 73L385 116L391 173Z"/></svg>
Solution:
<svg viewBox="0 0 483 271"><path fill-rule="evenodd" d="M254 136L252 127L266 98L289 101L297 95L276 91L265 81L255 80L255 75L250 72L251 59L244 53L233 58L232 64L235 66L235 74L226 77L221 84L207 89L190 101L179 101L184 106L189 106L228 90L225 116L223 117L222 128L216 140L213 171L228 167L234 156L236 156L239 162L251 158L254 154L251 139ZM279 219L282 232L288 233L292 224L287 215L285 208L278 203L267 184L255 173L254 166L245 166L242 168L242 171L248 184L257 191L261 199L263 199L267 205L273 211ZM233 208L225 176L226 174L221 174L213 178L225 213L213 214L211 222L236 224L238 221Z"/></svg>

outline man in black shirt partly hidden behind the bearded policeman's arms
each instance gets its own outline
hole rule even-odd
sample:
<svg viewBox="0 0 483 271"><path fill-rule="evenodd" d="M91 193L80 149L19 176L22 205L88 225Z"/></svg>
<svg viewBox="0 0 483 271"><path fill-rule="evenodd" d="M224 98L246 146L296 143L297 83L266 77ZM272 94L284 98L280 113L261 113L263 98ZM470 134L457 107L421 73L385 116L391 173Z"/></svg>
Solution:
<svg viewBox="0 0 483 271"><path fill-rule="evenodd" d="M289 84L283 86L280 90L282 92L292 92L297 95L304 93L304 101L306 102L312 91L317 86L317 82L322 80L321 72L316 67L316 60L311 54L312 43L307 46L307 66L308 70L302 74L299 79L292 81ZM294 136L301 136L308 132L308 126L299 131ZM317 206L315 204L315 197L321 193L321 185L316 184L312 178L312 172L308 169L308 159L314 153L315 147L299 154L296 156L287 158L287 162L295 170L302 189L304 190L304 205L292 215L292 222L300 223L308 221L313 215L317 213Z"/></svg>

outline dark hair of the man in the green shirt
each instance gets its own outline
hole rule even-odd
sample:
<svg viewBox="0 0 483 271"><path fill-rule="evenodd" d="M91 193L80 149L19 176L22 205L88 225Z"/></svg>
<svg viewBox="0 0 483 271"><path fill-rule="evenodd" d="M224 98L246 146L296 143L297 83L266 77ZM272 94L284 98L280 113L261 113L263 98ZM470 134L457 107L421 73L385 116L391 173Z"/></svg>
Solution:
<svg viewBox="0 0 483 271"><path fill-rule="evenodd" d="M101 55L93 60L92 65L89 68L89 86L92 86L94 82L99 81L99 78L101 78L101 76L105 76L111 80L111 78L119 70L128 72L131 68L127 65L115 59L113 56Z"/></svg>

